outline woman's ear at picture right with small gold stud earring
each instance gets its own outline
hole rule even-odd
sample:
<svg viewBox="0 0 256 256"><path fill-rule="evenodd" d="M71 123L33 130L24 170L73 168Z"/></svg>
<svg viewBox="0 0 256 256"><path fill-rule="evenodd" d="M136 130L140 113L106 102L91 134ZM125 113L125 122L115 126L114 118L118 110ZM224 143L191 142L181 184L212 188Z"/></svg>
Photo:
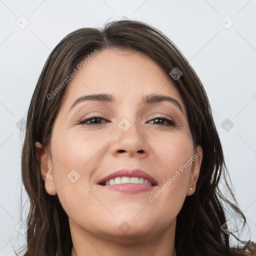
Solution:
<svg viewBox="0 0 256 256"><path fill-rule="evenodd" d="M200 167L202 163L202 147L197 145L194 150L193 156L190 158L192 160L192 166L189 173L189 183L187 184L187 192L186 195L191 195L194 193L196 188L196 182L199 177ZM192 188L192 190L190 189Z"/></svg>

